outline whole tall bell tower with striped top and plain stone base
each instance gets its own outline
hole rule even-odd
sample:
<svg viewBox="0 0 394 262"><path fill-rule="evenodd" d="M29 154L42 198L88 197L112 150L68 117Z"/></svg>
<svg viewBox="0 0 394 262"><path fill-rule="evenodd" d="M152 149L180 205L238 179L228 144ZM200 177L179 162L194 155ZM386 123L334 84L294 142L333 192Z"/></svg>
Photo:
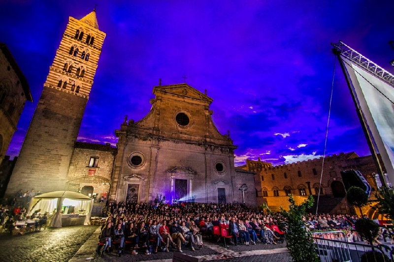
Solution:
<svg viewBox="0 0 394 262"><path fill-rule="evenodd" d="M66 190L66 177L105 33L96 9L80 20L69 17L26 134L7 194L32 188Z"/></svg>

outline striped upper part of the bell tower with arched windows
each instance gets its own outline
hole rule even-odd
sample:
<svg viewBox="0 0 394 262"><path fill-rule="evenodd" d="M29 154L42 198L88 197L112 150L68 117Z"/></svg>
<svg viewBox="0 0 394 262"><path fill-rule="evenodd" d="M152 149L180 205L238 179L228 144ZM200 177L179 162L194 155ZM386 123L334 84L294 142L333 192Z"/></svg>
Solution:
<svg viewBox="0 0 394 262"><path fill-rule="evenodd" d="M96 11L81 20L69 17L44 87L89 98L105 33L99 30Z"/></svg>

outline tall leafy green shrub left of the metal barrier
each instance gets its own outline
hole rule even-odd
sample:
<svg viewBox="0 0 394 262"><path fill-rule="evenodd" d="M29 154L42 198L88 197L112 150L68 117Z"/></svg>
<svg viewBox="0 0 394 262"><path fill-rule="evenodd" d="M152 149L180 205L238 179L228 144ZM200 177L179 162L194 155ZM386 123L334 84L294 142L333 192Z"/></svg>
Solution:
<svg viewBox="0 0 394 262"><path fill-rule="evenodd" d="M289 195L289 202L289 211L281 208L280 213L288 226L286 247L289 249L293 262L320 262L315 251L312 234L306 231L302 221L302 216L306 215L306 209L313 205L313 197L309 196L302 204L296 205L293 196Z"/></svg>

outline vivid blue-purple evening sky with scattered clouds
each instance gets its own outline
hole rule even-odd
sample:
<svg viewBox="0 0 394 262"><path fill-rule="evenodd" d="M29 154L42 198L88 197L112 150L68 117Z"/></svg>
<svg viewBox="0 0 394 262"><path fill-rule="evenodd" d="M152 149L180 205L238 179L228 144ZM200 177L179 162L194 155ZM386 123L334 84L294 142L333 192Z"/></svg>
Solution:
<svg viewBox="0 0 394 262"><path fill-rule="evenodd" d="M34 99L8 155L19 153L68 16L81 19L95 3L107 36L79 141L115 145L125 115L148 114L159 78L171 85L186 75L213 98L214 123L238 146L236 165L259 156L274 165L302 161L324 151L331 42L393 72L394 1L1 0L0 41ZM326 154L370 154L338 62L332 103Z"/></svg>

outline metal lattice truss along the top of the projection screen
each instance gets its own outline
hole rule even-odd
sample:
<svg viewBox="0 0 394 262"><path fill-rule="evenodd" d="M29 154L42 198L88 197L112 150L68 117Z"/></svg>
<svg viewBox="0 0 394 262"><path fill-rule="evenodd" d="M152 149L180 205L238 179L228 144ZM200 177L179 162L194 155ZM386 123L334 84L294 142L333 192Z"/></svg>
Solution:
<svg viewBox="0 0 394 262"><path fill-rule="evenodd" d="M331 44L334 46L337 52L341 54L342 57L346 58L359 65L361 68L365 69L369 73L373 74L380 80L386 82L390 86L394 87L394 75L387 72L385 69L372 62L368 58L362 56L356 50L350 48L345 43L340 41L337 44Z"/></svg>

